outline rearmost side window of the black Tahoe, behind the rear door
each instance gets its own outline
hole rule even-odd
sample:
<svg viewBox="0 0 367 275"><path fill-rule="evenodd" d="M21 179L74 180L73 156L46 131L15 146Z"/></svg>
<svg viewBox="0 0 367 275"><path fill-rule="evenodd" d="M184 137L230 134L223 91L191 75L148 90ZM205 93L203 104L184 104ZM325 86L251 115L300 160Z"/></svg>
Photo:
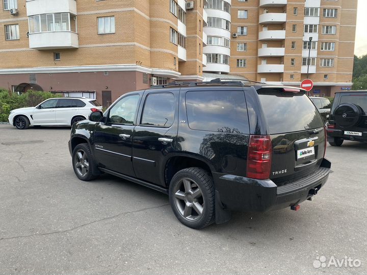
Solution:
<svg viewBox="0 0 367 275"><path fill-rule="evenodd" d="M243 91L192 91L186 93L186 109L191 129L249 133Z"/></svg>

